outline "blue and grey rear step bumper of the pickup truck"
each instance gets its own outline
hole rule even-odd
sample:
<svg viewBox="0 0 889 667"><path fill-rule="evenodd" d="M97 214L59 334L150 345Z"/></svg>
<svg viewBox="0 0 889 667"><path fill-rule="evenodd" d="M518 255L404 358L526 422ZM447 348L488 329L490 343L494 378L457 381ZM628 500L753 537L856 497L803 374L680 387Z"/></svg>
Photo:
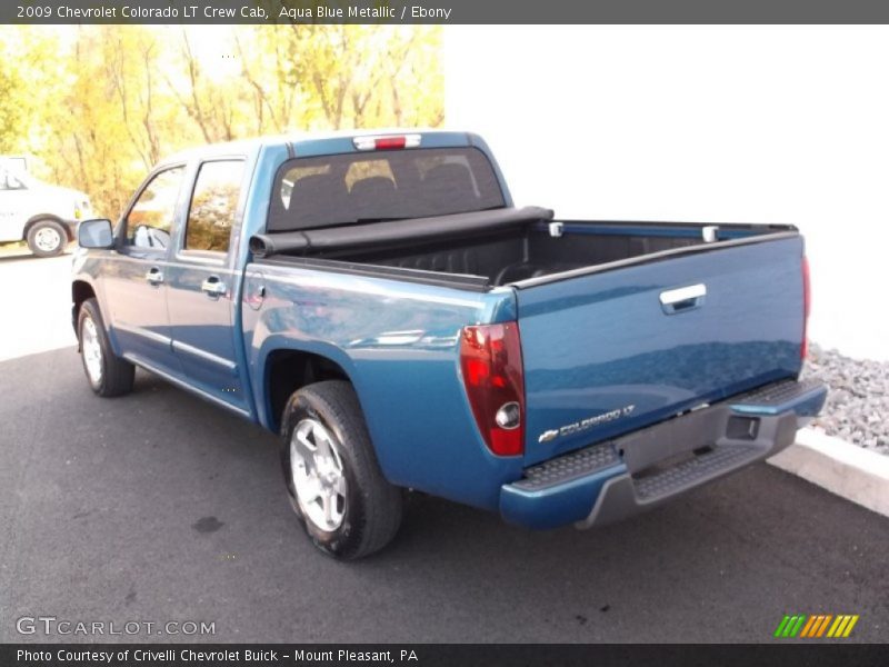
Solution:
<svg viewBox="0 0 889 667"><path fill-rule="evenodd" d="M782 380L527 468L500 514L528 528L590 528L657 507L790 446L827 388Z"/></svg>

